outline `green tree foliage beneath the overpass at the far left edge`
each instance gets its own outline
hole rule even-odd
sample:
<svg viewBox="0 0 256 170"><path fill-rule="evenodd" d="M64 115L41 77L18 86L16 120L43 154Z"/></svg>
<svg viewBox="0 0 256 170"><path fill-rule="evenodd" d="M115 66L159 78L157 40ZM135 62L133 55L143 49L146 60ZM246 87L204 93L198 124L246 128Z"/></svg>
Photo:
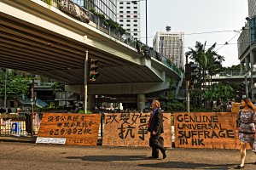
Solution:
<svg viewBox="0 0 256 170"><path fill-rule="evenodd" d="M6 96L20 97L26 94L27 86L29 84L28 77L15 75L14 71L0 70L0 96L5 95L5 81L6 81Z"/></svg>

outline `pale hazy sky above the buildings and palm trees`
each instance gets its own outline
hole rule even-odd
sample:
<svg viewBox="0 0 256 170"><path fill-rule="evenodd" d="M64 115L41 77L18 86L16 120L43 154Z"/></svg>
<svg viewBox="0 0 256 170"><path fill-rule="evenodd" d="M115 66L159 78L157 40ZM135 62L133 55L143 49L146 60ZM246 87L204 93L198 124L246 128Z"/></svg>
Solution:
<svg viewBox="0 0 256 170"><path fill-rule="evenodd" d="M145 1L141 0L141 40L145 43ZM183 31L184 52L195 42L217 42L217 53L224 56L224 66L238 65L237 39L248 16L247 0L148 0L148 45L152 47L156 31ZM212 33L203 33L212 32ZM196 34L200 33L200 34ZM225 42L229 44L224 45Z"/></svg>

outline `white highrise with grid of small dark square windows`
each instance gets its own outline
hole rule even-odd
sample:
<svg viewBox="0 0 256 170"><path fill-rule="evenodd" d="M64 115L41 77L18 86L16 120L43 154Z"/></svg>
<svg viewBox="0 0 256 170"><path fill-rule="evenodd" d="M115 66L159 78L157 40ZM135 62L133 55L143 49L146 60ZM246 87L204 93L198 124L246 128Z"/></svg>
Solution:
<svg viewBox="0 0 256 170"><path fill-rule="evenodd" d="M141 37L140 2L117 0L117 22L126 31L131 32L132 37L140 39Z"/></svg>

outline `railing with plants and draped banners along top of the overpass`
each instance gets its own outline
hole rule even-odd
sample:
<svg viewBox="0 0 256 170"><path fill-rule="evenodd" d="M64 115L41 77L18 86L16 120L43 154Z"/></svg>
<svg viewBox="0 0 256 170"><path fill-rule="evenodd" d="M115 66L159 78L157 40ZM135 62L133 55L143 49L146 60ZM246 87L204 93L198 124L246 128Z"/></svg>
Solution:
<svg viewBox="0 0 256 170"><path fill-rule="evenodd" d="M108 34L111 37L118 39L120 42L124 42L132 48L136 48L137 52L143 54L145 57L151 57L159 60L164 65L168 66L175 71L179 77L183 78L183 70L177 67L170 59L167 59L164 55L154 51L154 48L149 48L143 42L138 41L132 37L129 32L124 32L124 29L120 26L109 26L107 20L102 19L96 14L91 13L89 10L82 8L71 0L41 0L44 3L48 3L50 6L60 9L66 14L72 15L77 20L90 24L96 29ZM78 10L79 9L79 10ZM94 24L91 24L93 22Z"/></svg>

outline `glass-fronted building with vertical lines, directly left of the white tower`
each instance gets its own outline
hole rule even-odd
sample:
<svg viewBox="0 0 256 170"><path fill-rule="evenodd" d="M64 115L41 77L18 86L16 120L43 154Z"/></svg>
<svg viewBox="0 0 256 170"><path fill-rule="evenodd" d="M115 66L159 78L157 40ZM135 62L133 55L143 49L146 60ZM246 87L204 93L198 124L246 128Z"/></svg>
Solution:
<svg viewBox="0 0 256 170"><path fill-rule="evenodd" d="M104 14L108 19L116 21L117 0L72 0L81 7L94 9L99 14Z"/></svg>

